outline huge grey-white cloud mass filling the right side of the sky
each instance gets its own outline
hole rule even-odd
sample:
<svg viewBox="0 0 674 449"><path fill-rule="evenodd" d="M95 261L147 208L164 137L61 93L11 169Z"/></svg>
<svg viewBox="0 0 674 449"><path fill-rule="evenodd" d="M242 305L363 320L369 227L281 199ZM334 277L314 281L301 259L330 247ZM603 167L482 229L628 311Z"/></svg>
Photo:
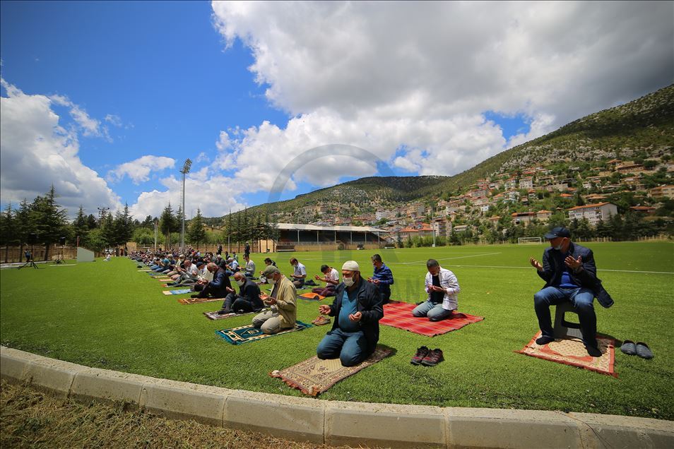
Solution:
<svg viewBox="0 0 674 449"><path fill-rule="evenodd" d="M671 83L671 2L213 1L285 124L223 133L213 167L254 190L320 145L355 145L420 174L459 173L581 116ZM486 112L531 119L507 139ZM292 175L317 186L376 172L319 157Z"/></svg>

